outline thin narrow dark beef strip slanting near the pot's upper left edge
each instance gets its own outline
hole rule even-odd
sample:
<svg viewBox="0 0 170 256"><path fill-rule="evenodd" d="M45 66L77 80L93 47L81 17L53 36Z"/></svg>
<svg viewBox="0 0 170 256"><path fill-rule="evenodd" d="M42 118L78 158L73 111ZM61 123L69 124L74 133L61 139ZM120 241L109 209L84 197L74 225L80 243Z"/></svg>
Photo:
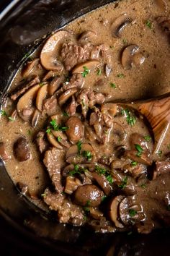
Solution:
<svg viewBox="0 0 170 256"><path fill-rule="evenodd" d="M32 80L24 82L24 84L21 85L21 87L17 87L17 90L15 90L11 95L10 98L12 101L16 101L17 98L25 93L28 89L30 89L33 85L36 85L40 82L39 77L36 75L32 78Z"/></svg>

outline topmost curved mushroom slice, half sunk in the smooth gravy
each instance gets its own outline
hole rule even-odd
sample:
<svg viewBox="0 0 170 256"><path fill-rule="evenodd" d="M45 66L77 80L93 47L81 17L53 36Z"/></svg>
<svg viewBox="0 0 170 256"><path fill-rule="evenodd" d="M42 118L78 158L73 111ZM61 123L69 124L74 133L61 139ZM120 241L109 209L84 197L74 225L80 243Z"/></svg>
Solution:
<svg viewBox="0 0 170 256"><path fill-rule="evenodd" d="M126 25L128 25L132 20L128 17L128 14L124 13L117 17L114 22L112 22L111 30L114 38L120 38L120 33Z"/></svg>

